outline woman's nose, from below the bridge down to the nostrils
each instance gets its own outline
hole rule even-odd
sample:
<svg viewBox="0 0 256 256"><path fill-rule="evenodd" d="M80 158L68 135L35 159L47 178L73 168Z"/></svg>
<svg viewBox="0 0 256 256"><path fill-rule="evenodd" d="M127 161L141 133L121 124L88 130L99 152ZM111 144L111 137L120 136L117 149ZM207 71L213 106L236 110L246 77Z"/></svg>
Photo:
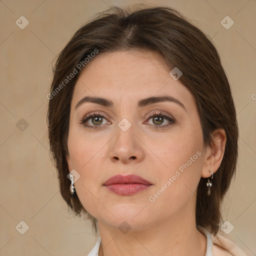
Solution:
<svg viewBox="0 0 256 256"><path fill-rule="evenodd" d="M144 158L143 143L134 133L132 125L126 131L117 126L116 135L110 142L109 158L113 162L124 164L142 161Z"/></svg>

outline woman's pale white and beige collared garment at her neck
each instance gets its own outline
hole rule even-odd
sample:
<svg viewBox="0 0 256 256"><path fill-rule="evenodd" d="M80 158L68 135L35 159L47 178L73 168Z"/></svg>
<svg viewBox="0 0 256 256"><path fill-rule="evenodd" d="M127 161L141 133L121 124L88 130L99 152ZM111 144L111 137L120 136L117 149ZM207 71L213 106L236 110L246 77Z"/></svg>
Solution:
<svg viewBox="0 0 256 256"><path fill-rule="evenodd" d="M207 245L205 256L246 256L246 254L231 240L221 236L213 236L207 229L197 226L197 229L206 236ZM213 241L213 242L212 242ZM87 256L98 256L101 237L99 237Z"/></svg>

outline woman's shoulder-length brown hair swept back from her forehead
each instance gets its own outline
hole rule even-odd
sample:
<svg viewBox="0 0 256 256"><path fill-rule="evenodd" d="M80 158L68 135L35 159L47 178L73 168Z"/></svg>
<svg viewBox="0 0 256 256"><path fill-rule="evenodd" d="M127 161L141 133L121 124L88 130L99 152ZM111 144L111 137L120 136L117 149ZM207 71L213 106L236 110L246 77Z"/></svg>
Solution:
<svg viewBox="0 0 256 256"><path fill-rule="evenodd" d="M221 220L220 204L235 172L237 159L238 129L234 103L213 44L201 30L169 7L135 10L112 7L77 30L60 52L53 70L51 94L48 94L47 121L50 150L56 163L62 197L76 215L80 215L81 211L88 213L77 195L69 192L69 170L65 158L68 154L70 102L81 71L68 81L65 79L74 69L78 69L81 61L86 68L84 59L95 49L98 55L130 49L156 52L170 70L178 67L182 71L179 81L189 89L196 101L205 146L213 143L210 135L213 130L225 130L225 152L214 174L211 194L207 195L205 178L201 178L196 198L196 224L216 234ZM89 213L88 218L96 230L96 219Z"/></svg>

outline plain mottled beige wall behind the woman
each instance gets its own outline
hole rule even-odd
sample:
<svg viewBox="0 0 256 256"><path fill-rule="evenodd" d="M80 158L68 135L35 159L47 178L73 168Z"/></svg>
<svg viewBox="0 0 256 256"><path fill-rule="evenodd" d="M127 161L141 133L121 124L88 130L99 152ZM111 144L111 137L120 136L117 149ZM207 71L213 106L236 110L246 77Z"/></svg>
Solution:
<svg viewBox="0 0 256 256"><path fill-rule="evenodd" d="M255 0L0 0L0 256L85 256L94 245L90 222L75 217L62 200L49 158L51 64L93 14L142 2L176 8L220 53L240 130L237 175L223 205L223 221L234 229L221 234L256 255ZM21 15L29 21L24 29L15 24ZM226 15L234 21L229 29L220 23ZM24 234L18 232L25 228L21 220L29 226Z"/></svg>

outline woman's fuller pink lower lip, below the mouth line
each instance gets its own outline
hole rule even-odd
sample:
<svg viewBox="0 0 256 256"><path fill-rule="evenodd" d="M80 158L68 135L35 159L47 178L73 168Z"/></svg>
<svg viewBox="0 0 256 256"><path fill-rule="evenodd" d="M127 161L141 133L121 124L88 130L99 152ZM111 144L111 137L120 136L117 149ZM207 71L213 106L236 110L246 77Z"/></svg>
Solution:
<svg viewBox="0 0 256 256"><path fill-rule="evenodd" d="M139 191L145 190L149 186L150 185L145 185L141 183L130 183L130 184L112 184L112 185L107 185L106 187L110 191L118 195L131 195Z"/></svg>

